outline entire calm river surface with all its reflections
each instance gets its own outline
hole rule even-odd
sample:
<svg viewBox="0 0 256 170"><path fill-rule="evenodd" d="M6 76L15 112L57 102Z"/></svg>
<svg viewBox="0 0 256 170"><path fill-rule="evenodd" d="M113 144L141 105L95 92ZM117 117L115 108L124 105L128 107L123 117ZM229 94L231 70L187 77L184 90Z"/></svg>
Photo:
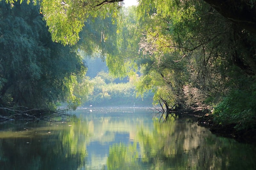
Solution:
<svg viewBox="0 0 256 170"><path fill-rule="evenodd" d="M191 118L143 108L80 109L71 122L0 124L0 169L256 169L256 147Z"/></svg>

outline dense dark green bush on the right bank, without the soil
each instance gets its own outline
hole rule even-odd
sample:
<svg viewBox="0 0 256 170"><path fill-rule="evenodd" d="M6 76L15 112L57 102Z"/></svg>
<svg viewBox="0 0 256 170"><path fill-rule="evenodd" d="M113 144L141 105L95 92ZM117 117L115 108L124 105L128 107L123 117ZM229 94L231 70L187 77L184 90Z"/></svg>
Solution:
<svg viewBox="0 0 256 170"><path fill-rule="evenodd" d="M256 128L256 83L247 80L244 80L248 83L244 88L233 89L215 107L216 123L234 124L237 130Z"/></svg>

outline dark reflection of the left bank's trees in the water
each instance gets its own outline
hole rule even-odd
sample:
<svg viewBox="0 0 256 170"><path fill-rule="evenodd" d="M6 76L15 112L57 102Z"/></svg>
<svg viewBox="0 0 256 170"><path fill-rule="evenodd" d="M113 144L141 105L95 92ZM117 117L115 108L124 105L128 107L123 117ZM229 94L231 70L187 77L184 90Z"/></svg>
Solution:
<svg viewBox="0 0 256 170"><path fill-rule="evenodd" d="M46 124L9 124L9 131L0 133L0 169L82 168L86 164L88 124Z"/></svg>

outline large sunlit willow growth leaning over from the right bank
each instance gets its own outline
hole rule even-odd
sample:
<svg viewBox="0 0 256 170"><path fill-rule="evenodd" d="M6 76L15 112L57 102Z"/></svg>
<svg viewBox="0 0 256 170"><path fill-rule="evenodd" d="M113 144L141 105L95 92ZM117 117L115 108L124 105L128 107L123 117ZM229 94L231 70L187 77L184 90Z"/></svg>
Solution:
<svg viewBox="0 0 256 170"><path fill-rule="evenodd" d="M138 92L153 89L156 101L203 110L240 84L230 81L237 69L255 73L254 35L204 1L141 0L137 14L123 20L119 52L107 63L114 74L139 68Z"/></svg>

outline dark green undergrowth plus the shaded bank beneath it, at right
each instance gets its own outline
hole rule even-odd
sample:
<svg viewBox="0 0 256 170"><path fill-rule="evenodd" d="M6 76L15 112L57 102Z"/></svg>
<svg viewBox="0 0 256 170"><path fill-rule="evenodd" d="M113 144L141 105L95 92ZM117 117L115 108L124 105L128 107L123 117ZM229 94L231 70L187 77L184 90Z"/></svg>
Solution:
<svg viewBox="0 0 256 170"><path fill-rule="evenodd" d="M248 80L248 79L247 79ZM211 114L199 118L200 125L240 141L256 139L256 83L244 80L243 88L233 89Z"/></svg>

